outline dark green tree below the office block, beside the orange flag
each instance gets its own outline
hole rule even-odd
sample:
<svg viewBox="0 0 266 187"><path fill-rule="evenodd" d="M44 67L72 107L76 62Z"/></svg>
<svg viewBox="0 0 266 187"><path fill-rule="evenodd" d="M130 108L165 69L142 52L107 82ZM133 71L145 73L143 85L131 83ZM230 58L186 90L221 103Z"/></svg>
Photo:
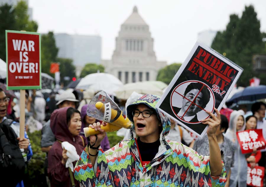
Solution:
<svg viewBox="0 0 266 187"><path fill-rule="evenodd" d="M76 77L76 67L73 64L73 60L69 58L57 58L56 61L60 63L59 70L61 83L64 83L64 86L67 86L72 77ZM64 80L64 77L70 77L70 81Z"/></svg>

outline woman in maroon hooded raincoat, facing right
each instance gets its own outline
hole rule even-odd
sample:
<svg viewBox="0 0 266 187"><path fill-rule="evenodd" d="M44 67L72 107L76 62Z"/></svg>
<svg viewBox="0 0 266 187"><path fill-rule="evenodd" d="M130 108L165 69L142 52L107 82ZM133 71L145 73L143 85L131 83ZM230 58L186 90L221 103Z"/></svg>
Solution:
<svg viewBox="0 0 266 187"><path fill-rule="evenodd" d="M71 187L72 181L69 169L66 168L67 150L62 148L61 142L72 144L80 155L84 148L84 140L80 136L81 117L80 112L72 107L59 108L53 111L51 115L51 129L56 137L48 154L48 176L51 181L51 187ZM76 162L72 162L73 165ZM78 182L74 180L75 186Z"/></svg>

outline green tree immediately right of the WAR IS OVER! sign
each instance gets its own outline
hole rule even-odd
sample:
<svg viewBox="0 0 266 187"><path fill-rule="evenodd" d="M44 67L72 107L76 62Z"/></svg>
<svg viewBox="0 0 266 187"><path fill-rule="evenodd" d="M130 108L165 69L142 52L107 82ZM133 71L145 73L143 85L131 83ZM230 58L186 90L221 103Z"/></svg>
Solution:
<svg viewBox="0 0 266 187"><path fill-rule="evenodd" d="M42 60L42 72L47 73L54 77L50 73L51 62L57 62L56 57L58 48L56 47L53 32L48 32L41 36L41 60Z"/></svg>

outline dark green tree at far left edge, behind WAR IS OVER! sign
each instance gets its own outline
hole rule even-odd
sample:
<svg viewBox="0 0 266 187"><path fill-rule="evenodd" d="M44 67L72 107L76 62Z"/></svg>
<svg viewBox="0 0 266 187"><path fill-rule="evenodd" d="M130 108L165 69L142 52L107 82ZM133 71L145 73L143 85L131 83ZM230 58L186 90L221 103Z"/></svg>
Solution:
<svg viewBox="0 0 266 187"><path fill-rule="evenodd" d="M8 4L0 6L0 58L6 61L5 30L17 30L14 9Z"/></svg>

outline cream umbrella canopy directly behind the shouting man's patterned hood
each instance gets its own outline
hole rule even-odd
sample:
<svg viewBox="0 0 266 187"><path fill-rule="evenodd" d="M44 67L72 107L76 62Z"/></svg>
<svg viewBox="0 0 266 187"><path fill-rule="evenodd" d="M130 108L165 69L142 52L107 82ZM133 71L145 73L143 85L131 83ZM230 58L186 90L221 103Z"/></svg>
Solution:
<svg viewBox="0 0 266 187"><path fill-rule="evenodd" d="M149 81L125 84L123 87L116 90L115 93L116 97L119 99L128 99L129 96L134 91L143 95L144 94L154 94L159 96L163 95L163 91L154 84L150 83Z"/></svg>

